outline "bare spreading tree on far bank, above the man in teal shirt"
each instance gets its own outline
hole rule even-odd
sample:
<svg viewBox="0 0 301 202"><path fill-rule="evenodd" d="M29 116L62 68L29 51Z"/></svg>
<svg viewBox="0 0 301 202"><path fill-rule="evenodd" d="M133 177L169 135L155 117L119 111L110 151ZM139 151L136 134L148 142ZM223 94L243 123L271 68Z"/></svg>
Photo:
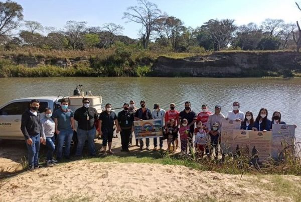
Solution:
<svg viewBox="0 0 301 202"><path fill-rule="evenodd" d="M67 21L65 30L69 44L73 50L79 48L82 43L82 36L86 31L87 22Z"/></svg>

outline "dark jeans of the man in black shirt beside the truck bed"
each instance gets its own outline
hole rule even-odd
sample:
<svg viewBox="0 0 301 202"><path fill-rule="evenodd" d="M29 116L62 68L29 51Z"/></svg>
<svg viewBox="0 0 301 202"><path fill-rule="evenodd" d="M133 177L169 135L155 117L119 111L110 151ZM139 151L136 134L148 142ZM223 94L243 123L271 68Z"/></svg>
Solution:
<svg viewBox="0 0 301 202"><path fill-rule="evenodd" d="M77 148L75 155L81 156L85 141L88 138L88 146L89 146L89 152L90 155L95 155L95 144L94 144L94 137L95 137L96 129L95 127L91 130L82 130L80 128L77 128Z"/></svg>

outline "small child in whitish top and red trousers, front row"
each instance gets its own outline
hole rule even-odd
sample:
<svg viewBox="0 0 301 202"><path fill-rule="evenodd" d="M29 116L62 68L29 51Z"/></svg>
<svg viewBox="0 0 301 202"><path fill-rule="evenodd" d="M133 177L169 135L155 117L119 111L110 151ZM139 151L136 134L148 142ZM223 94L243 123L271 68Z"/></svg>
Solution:
<svg viewBox="0 0 301 202"><path fill-rule="evenodd" d="M196 154L201 159L203 159L205 148L207 150L207 133L204 130L204 126L201 121L197 121L197 127L195 128L195 147L196 147ZM208 151L206 151L208 153Z"/></svg>

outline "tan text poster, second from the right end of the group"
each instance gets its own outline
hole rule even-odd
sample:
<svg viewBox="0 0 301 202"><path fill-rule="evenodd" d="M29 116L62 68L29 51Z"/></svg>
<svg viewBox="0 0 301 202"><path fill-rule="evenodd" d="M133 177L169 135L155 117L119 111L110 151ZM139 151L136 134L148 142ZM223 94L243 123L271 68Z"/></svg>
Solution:
<svg viewBox="0 0 301 202"><path fill-rule="evenodd" d="M259 159L271 156L272 132L249 131L250 157L257 154Z"/></svg>

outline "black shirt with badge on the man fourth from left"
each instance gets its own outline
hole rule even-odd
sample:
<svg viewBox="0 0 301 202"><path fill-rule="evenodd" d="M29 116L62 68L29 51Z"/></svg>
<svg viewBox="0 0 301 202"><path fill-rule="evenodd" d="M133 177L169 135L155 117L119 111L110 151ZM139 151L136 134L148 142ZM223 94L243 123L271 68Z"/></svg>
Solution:
<svg viewBox="0 0 301 202"><path fill-rule="evenodd" d="M94 128L94 122L97 119L98 113L93 107L81 107L75 110L74 119L77 125L82 130L91 130Z"/></svg>

